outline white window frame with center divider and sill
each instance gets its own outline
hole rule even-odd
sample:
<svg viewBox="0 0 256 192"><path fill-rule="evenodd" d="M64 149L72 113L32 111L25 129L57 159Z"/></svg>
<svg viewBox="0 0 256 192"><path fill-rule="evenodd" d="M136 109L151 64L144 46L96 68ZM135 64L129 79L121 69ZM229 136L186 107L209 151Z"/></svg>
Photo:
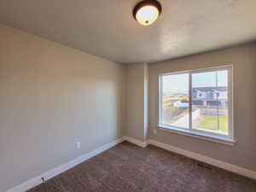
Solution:
<svg viewBox="0 0 256 192"><path fill-rule="evenodd" d="M228 71L228 113L229 113L229 132L227 135L220 134L214 131L205 131L205 130L198 130L193 129L192 127L192 74L195 73L207 73L212 71L219 71L219 70L227 70ZM173 125L163 125L161 124L161 114L163 113L162 108L162 77L166 75L175 75L175 74L189 74L189 129L183 127L177 127ZM234 139L234 123L233 123L233 66L223 66L223 67L211 67L211 68L204 68L204 69L196 69L196 70L189 70L189 71L182 71L182 72L175 72L175 73L164 73L159 75L159 125L158 127L160 130L163 131L171 131L173 133L182 134L185 136L190 137L197 137L201 139L205 139L212 142L217 143L224 143L228 145L234 145L236 143Z"/></svg>

